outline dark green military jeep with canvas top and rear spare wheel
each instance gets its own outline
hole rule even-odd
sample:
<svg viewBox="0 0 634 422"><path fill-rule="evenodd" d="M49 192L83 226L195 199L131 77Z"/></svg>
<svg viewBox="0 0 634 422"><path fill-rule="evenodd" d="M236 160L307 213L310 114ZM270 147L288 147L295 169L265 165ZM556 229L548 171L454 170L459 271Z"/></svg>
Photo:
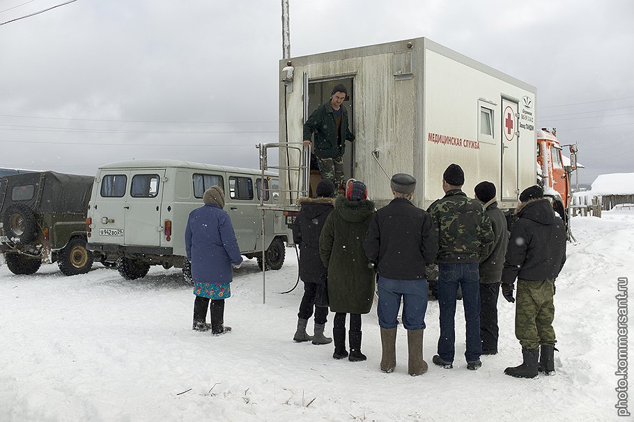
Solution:
<svg viewBox="0 0 634 422"><path fill-rule="evenodd" d="M85 220L93 180L53 171L0 178L0 253L13 274L55 262L67 276L91 269Z"/></svg>

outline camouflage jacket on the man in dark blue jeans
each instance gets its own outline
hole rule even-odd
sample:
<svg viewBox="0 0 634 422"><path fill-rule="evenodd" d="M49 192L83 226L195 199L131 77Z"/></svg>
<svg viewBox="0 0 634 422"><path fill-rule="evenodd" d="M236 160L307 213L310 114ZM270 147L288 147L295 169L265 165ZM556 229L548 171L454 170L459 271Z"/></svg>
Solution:
<svg viewBox="0 0 634 422"><path fill-rule="evenodd" d="M482 204L454 189L427 209L438 231L438 263L479 263L493 243L491 221Z"/></svg>

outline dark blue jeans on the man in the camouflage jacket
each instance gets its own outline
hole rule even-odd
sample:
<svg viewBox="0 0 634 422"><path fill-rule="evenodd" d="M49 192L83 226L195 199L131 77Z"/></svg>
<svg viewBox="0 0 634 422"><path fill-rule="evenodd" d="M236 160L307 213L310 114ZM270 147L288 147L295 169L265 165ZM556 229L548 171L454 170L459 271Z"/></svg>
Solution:
<svg viewBox="0 0 634 422"><path fill-rule="evenodd" d="M480 359L480 276L477 263L438 265L438 305L440 307L440 338L438 355L447 362L456 354L456 300L458 287L463 291L463 306L467 331L467 362Z"/></svg>

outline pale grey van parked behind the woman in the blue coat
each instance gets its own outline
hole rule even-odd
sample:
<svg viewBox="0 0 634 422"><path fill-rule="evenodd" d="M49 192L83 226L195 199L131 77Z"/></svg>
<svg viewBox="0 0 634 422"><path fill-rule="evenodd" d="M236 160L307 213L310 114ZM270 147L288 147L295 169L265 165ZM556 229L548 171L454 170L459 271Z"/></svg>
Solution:
<svg viewBox="0 0 634 422"><path fill-rule="evenodd" d="M172 159L100 167L86 219L88 249L102 261L116 263L125 279L146 276L150 265L186 268L187 219L203 206L203 193L214 185L224 190L224 210L231 217L242 255L257 258L260 267L281 268L284 242L292 242L290 229L281 211L259 207L277 201L277 173L265 172L262 178L259 170Z"/></svg>

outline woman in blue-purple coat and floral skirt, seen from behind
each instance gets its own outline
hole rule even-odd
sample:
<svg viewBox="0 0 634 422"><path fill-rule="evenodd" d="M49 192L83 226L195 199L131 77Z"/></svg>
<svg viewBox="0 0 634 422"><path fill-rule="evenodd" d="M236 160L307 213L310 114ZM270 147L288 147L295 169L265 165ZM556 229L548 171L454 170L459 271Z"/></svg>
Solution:
<svg viewBox="0 0 634 422"><path fill-rule="evenodd" d="M203 194L201 208L190 212L185 228L185 251L192 263L194 281L193 329L207 331L207 306L211 331L215 336L231 331L224 326L224 299L231 296L233 269L242 263L229 214L224 207L224 192L212 186Z"/></svg>

